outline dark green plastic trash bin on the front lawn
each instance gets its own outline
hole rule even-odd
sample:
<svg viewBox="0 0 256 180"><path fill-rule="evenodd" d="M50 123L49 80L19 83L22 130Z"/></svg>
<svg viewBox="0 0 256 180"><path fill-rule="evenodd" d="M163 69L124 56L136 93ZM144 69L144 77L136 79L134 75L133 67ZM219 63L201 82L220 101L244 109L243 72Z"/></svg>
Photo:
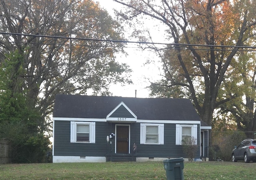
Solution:
<svg viewBox="0 0 256 180"><path fill-rule="evenodd" d="M166 170L167 180L184 180L184 159L166 159L164 160L164 169Z"/></svg>

